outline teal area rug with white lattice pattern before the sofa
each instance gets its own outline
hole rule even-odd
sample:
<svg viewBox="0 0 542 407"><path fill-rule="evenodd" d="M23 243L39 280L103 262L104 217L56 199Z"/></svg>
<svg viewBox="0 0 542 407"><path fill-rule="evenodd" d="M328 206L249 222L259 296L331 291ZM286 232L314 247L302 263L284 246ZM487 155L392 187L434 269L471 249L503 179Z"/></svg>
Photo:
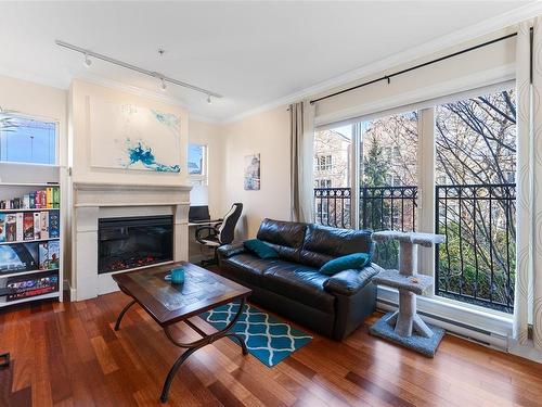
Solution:
<svg viewBox="0 0 542 407"><path fill-rule="evenodd" d="M233 319L238 306L222 305L199 317L220 330ZM268 367L275 366L312 341L312 336L307 333L248 304L232 332L241 335L248 352Z"/></svg>

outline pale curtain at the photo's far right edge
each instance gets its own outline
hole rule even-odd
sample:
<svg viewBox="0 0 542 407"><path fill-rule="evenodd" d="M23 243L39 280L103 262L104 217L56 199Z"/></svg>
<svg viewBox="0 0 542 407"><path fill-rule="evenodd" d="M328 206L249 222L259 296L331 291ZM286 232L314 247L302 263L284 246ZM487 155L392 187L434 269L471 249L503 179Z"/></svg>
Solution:
<svg viewBox="0 0 542 407"><path fill-rule="evenodd" d="M514 340L542 351L542 18L519 26L516 46L517 232ZM532 56L532 58L531 58ZM531 66L532 61L532 66ZM529 339L532 323L532 342Z"/></svg>

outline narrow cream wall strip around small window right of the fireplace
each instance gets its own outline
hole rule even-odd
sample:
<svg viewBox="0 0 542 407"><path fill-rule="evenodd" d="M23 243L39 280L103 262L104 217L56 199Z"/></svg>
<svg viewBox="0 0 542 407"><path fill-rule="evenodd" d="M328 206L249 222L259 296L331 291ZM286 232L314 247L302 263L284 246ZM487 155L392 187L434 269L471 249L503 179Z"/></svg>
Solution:
<svg viewBox="0 0 542 407"><path fill-rule="evenodd" d="M192 205L209 205L211 218L222 217L222 174L224 169L224 143L220 126L189 120L189 142L207 145L208 183L194 186L190 192Z"/></svg>

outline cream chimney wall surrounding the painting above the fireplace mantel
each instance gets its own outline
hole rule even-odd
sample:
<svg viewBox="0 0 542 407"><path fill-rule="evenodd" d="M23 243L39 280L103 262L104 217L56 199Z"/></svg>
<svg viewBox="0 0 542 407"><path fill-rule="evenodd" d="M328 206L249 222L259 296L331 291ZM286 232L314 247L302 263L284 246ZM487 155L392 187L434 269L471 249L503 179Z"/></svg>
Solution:
<svg viewBox="0 0 542 407"><path fill-rule="evenodd" d="M106 88L100 85L74 80L69 89L70 111L70 141L73 143L73 182L118 182L118 183L152 183L152 185L185 185L186 168L183 164L181 171L155 173L144 170L126 170L115 168L95 168L90 165L91 133L89 131L89 100L102 100L129 103L149 109L176 114L181 120L181 151L180 163L186 163L186 147L189 137L189 115L186 110L167 104L156 99L140 97L126 91Z"/></svg>

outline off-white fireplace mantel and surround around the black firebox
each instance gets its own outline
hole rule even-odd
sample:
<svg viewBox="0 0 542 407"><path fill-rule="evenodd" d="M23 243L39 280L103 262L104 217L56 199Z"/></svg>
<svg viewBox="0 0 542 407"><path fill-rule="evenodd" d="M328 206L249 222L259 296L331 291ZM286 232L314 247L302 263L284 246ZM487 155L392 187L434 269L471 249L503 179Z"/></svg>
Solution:
<svg viewBox="0 0 542 407"><path fill-rule="evenodd" d="M188 260L191 186L74 182L73 297L117 290L111 274L98 275L98 221L122 216L173 216L173 260Z"/></svg>

